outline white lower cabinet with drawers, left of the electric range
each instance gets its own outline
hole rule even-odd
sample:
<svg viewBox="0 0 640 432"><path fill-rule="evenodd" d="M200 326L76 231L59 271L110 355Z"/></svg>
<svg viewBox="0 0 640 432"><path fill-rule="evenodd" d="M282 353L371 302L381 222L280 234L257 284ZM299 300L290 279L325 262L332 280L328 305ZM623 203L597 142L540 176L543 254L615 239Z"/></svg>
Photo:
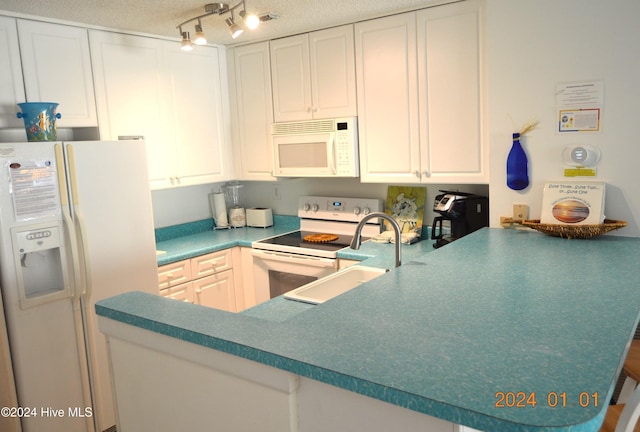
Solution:
<svg viewBox="0 0 640 432"><path fill-rule="evenodd" d="M239 262L240 251L236 247L161 266L160 295L229 312L242 310Z"/></svg>

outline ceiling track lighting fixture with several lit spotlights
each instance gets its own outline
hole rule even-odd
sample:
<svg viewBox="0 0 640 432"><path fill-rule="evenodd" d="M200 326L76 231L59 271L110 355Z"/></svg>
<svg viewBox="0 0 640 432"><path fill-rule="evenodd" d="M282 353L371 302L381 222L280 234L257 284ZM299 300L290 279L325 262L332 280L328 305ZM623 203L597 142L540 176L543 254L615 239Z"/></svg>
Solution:
<svg viewBox="0 0 640 432"><path fill-rule="evenodd" d="M204 31L202 30L201 19L209 15L224 15L225 13L229 13L230 16L225 19L225 23L229 27L231 37L235 39L240 36L244 29L235 22L233 17L233 11L240 7L242 7L242 10L239 11L238 15L240 15L243 25L251 30L256 29L261 22L280 18L280 15L274 12L268 12L260 16L247 13L245 0L240 0L235 6L229 6L227 3L208 3L204 5L204 14L190 18L176 26L176 28L180 32L180 36L182 37L180 48L184 50L191 50L193 49L192 42L195 45L205 45L207 43L207 38L204 34ZM195 33L193 41L191 41L191 39L189 38L189 32L182 31L182 27L196 20L198 21L198 23L195 25Z"/></svg>

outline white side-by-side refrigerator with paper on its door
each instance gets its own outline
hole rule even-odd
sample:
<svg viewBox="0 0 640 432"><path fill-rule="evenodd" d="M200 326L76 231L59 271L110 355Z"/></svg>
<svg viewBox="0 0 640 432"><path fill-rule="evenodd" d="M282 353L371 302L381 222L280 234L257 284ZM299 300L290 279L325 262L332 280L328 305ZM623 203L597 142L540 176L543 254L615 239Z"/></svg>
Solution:
<svg viewBox="0 0 640 432"><path fill-rule="evenodd" d="M0 288L0 430L115 430L95 303L158 294L143 141L0 143Z"/></svg>

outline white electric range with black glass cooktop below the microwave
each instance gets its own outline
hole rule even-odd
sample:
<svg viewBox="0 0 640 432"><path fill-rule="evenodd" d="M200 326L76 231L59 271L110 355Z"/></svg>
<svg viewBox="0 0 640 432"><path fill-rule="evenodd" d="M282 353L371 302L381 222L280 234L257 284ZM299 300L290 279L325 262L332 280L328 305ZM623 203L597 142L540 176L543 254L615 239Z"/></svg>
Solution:
<svg viewBox="0 0 640 432"><path fill-rule="evenodd" d="M251 245L257 303L338 271L338 251L349 247L358 222L378 211L379 199L300 197L300 230ZM363 228L363 240L380 231L380 221L372 219Z"/></svg>

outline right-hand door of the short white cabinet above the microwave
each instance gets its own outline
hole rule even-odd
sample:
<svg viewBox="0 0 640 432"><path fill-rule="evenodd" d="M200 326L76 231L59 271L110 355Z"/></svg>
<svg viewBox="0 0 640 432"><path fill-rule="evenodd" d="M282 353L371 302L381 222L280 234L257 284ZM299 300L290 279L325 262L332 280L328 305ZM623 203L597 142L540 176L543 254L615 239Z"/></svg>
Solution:
<svg viewBox="0 0 640 432"><path fill-rule="evenodd" d="M353 25L309 33L314 118L358 115Z"/></svg>

